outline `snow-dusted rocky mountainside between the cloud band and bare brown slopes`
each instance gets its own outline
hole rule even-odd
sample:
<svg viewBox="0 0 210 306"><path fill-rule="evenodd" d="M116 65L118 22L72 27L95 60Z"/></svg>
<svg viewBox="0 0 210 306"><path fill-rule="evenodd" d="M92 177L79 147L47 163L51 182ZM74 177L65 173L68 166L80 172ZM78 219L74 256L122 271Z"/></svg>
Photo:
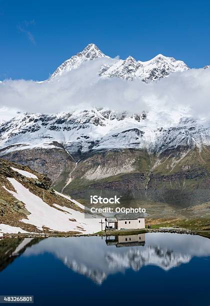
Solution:
<svg viewBox="0 0 210 306"><path fill-rule="evenodd" d="M209 139L209 124L190 118L168 126L160 121L157 127L144 112L94 108L54 115L23 113L0 125L0 154L56 148L75 161L90 151L136 148L161 155L177 146L200 149Z"/></svg>

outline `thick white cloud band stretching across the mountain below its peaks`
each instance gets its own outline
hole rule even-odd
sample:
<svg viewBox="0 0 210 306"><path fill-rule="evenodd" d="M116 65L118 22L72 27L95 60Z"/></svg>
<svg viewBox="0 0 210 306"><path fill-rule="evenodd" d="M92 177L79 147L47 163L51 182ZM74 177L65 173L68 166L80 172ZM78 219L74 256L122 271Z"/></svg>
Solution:
<svg viewBox="0 0 210 306"><path fill-rule="evenodd" d="M161 116L178 110L180 114L208 117L210 69L174 72L145 84L138 79L99 77L97 72L103 61L85 62L63 74L59 81L4 80L0 83L0 108L55 113L104 106L130 112L155 109Z"/></svg>

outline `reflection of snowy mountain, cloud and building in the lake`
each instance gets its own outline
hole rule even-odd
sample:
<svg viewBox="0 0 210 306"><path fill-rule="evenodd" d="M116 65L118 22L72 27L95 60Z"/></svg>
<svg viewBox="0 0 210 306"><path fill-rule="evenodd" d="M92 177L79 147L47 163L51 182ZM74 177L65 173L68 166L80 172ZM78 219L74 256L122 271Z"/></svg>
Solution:
<svg viewBox="0 0 210 306"><path fill-rule="evenodd" d="M187 263L193 256L209 256L209 239L171 233L146 233L127 236L69 237L45 239L3 239L0 241L0 270L20 254L53 254L73 271L101 284L108 275L138 271L155 265L169 270Z"/></svg>

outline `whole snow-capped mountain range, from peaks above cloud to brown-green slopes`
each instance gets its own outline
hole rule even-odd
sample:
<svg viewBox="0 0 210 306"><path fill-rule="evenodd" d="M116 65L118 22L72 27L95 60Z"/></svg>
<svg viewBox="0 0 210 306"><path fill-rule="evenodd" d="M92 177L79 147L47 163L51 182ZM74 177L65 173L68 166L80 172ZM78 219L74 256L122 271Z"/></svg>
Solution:
<svg viewBox="0 0 210 306"><path fill-rule="evenodd" d="M189 69L158 54L148 61L110 58L94 44L64 61L45 82L85 61L103 58L98 77L145 83ZM110 80L111 81L111 80ZM210 196L210 126L192 117L155 109L132 113L92 107L58 114L19 113L0 124L1 158L47 174L58 191L88 201L91 194L118 194L125 204L165 203L188 207ZM154 124L155 123L155 124Z"/></svg>

